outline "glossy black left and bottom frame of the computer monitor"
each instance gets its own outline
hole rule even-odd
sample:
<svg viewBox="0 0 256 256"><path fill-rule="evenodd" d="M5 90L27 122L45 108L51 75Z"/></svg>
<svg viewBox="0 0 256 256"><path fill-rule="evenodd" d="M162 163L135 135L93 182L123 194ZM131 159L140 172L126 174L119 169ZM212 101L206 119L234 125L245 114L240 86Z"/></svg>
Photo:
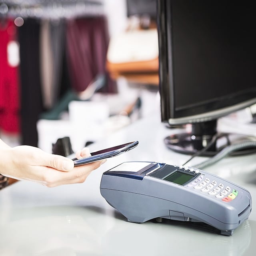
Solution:
<svg viewBox="0 0 256 256"><path fill-rule="evenodd" d="M172 27L171 17L167 10L171 10L172 1L157 1L157 23L159 41L159 90L161 103L161 120L170 125L207 122L226 116L237 110L256 103L256 97L248 95L223 98L221 101L210 102L204 106L176 110L174 98L173 62L172 62Z"/></svg>

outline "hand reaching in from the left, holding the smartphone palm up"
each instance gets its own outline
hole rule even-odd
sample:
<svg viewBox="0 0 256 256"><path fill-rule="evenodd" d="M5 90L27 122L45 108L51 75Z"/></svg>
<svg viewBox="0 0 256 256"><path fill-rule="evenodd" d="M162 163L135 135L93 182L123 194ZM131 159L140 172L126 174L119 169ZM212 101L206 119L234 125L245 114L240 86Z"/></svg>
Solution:
<svg viewBox="0 0 256 256"><path fill-rule="evenodd" d="M18 180L31 180L44 186L82 183L106 160L77 166L64 156L49 154L32 146L2 147L0 173ZM88 148L76 152L76 158L90 156Z"/></svg>

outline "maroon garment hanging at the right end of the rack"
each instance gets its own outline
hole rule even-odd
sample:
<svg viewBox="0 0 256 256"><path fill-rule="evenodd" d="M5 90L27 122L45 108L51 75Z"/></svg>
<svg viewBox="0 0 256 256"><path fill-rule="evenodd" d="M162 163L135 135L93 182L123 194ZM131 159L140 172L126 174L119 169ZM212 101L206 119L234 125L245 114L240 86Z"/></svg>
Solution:
<svg viewBox="0 0 256 256"><path fill-rule="evenodd" d="M86 17L67 21L67 55L72 88L82 92L98 74L106 74L102 92L117 92L116 83L106 72L108 28L105 17Z"/></svg>

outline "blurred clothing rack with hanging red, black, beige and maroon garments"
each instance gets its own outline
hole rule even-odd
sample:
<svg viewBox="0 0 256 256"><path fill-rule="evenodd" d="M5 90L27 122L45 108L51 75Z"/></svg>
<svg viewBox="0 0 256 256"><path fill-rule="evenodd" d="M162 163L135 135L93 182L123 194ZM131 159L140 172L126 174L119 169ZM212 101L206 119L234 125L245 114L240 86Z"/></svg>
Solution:
<svg viewBox="0 0 256 256"><path fill-rule="evenodd" d="M107 29L100 0L0 0L0 71L8 71L0 76L0 89L5 90L0 129L17 127L21 144L38 146L36 124L42 112L52 110L69 90L83 91L98 74L106 73ZM15 72L6 61L11 40L19 45ZM115 93L115 82L109 77L106 81L102 92ZM12 94L11 112L6 99ZM12 122L6 113L12 114Z"/></svg>

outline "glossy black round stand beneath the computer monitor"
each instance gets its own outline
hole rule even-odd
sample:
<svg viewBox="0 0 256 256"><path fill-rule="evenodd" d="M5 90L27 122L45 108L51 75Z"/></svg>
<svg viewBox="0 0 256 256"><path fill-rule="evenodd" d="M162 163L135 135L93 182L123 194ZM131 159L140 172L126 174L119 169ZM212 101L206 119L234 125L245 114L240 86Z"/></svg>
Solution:
<svg viewBox="0 0 256 256"><path fill-rule="evenodd" d="M191 124L191 132L172 134L164 139L168 148L182 154L197 154L200 156L214 156L224 147L248 140L250 136L234 133L217 133L217 120ZM216 141L214 141L216 140ZM214 141L214 142L212 142ZM210 144L212 145L210 145ZM209 146L207 150L203 150ZM255 153L256 148L247 148L232 152L230 155L238 156Z"/></svg>

